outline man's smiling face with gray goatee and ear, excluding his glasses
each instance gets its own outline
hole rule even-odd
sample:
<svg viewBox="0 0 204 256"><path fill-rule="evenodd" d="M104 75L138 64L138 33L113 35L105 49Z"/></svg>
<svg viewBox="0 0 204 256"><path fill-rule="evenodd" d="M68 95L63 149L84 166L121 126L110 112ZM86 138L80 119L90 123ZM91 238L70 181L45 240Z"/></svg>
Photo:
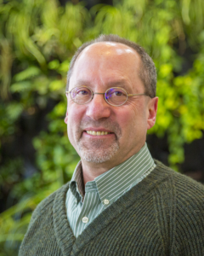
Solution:
<svg viewBox="0 0 204 256"><path fill-rule="evenodd" d="M124 44L92 44L78 56L69 90L85 85L94 92L122 87L128 94L144 93L140 66L139 55ZM149 96L132 96L114 107L103 95L94 95L85 105L73 102L69 95L68 137L82 161L116 166L143 147L146 131L155 123L156 107L157 98Z"/></svg>

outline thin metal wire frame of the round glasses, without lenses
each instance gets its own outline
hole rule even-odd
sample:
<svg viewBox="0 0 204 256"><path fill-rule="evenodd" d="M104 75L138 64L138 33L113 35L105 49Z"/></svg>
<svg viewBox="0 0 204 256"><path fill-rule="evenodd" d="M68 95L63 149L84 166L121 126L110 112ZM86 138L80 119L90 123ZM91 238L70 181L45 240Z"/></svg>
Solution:
<svg viewBox="0 0 204 256"><path fill-rule="evenodd" d="M94 92L94 91L91 90L91 88L89 88L88 86L82 85L82 86L79 86L79 87L76 86L76 87L72 88L71 90L73 90L73 89L75 89L75 88L82 88L82 87L88 88L88 90L90 90L90 91L92 92L92 97L91 97L90 100L89 100L88 102L86 102L86 103L77 103L77 102L75 102L75 101L72 99L72 97L71 97L71 100L72 100L73 102L75 102L76 104L78 104L78 105L85 105L85 104L88 104L89 102L91 102L91 101L94 99L94 94L101 94L101 95L104 95L104 98L105 98L105 93L106 93L106 91L111 90L111 89L115 89L115 88L122 89L122 90L124 90L124 91L126 92L126 94L127 94L127 91L126 91L125 89L123 89L122 87L111 87L111 88L105 90L105 92ZM71 95L71 90L65 91L65 94L70 93L70 95ZM145 94L145 93L127 94L127 99L128 99L129 96L130 96L130 97L131 97L131 96L149 96L149 97L151 98L150 95ZM108 102L106 99L105 99L105 102L107 102L107 103L108 103L109 105L111 105L111 106L120 107L120 106L124 105L124 104L127 102L127 99L126 99L126 101L123 102L121 105L113 105L113 104L111 104L110 102Z"/></svg>

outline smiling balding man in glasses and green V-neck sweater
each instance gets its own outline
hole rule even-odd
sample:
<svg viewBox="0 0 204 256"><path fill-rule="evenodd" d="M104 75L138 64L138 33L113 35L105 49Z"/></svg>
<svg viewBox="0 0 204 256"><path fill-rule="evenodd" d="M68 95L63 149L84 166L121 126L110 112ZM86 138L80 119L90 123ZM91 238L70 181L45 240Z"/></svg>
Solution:
<svg viewBox="0 0 204 256"><path fill-rule="evenodd" d="M32 215L20 255L204 255L204 189L154 161L156 68L138 44L83 44L66 88L68 137L81 161Z"/></svg>

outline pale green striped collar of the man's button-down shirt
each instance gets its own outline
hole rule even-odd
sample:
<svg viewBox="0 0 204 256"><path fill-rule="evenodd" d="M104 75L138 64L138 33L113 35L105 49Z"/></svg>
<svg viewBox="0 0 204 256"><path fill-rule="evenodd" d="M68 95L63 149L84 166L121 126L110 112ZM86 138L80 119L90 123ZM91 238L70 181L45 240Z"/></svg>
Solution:
<svg viewBox="0 0 204 256"><path fill-rule="evenodd" d="M99 192L100 201L103 202L106 199L112 203L123 195L125 191L127 191L137 179L141 178L145 172L150 170L152 166L154 166L154 160L145 143L144 147L141 148L137 154L134 154L119 166L115 166L111 170L99 175L94 181L88 182L86 184L86 190L87 187L90 186L92 186L93 189L96 187ZM79 200L79 198L82 200L84 185L81 161L78 163L73 173L70 188L77 200Z"/></svg>

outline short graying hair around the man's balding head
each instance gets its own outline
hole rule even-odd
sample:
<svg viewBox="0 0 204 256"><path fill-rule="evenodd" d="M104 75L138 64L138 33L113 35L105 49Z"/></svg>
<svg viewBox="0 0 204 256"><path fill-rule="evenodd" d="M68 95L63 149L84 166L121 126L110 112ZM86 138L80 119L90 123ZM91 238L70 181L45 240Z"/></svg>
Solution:
<svg viewBox="0 0 204 256"><path fill-rule="evenodd" d="M139 77L144 83L145 93L148 94L151 98L156 96L156 67L152 61L150 55L148 55L145 50L139 45L135 44L125 38L120 38L117 35L100 35L99 38L96 38L90 42L82 44L82 46L77 49L77 52L71 59L70 68L67 74L67 84L66 90L69 90L69 82L71 79L71 73L74 68L74 64L77 61L78 55L82 52L83 49L88 47L88 45L101 43L101 42L115 42L119 44L125 44L128 47L134 49L140 56L142 61L142 66L140 67Z"/></svg>

